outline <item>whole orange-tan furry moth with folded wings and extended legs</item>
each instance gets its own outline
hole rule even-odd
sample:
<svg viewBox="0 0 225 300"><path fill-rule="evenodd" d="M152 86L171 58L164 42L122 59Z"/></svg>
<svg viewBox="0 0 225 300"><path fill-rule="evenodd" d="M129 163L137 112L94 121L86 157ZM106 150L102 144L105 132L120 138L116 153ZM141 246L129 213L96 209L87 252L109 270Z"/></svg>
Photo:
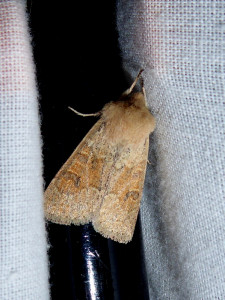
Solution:
<svg viewBox="0 0 225 300"><path fill-rule="evenodd" d="M100 119L58 171L44 195L47 220L87 224L106 238L131 241L142 197L149 135L155 119L149 112L141 70L118 101L96 114Z"/></svg>

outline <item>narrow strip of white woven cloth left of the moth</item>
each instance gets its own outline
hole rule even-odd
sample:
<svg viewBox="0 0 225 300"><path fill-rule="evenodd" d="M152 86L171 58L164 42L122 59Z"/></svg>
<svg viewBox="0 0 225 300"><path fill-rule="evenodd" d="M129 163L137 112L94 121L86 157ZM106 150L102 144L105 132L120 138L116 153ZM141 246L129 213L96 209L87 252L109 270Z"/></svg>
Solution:
<svg viewBox="0 0 225 300"><path fill-rule="evenodd" d="M41 143L25 1L0 2L0 299L49 299Z"/></svg>

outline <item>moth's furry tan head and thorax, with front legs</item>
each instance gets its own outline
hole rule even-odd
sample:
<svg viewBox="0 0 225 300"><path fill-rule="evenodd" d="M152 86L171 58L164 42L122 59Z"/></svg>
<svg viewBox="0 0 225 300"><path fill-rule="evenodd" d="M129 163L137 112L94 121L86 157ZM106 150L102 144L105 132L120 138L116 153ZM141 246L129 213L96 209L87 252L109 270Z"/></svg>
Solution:
<svg viewBox="0 0 225 300"><path fill-rule="evenodd" d="M147 107L143 80L140 77L142 71L118 101L106 104L102 110L106 135L112 143L142 145L155 129L155 118ZM134 92L139 79L142 89L140 92Z"/></svg>

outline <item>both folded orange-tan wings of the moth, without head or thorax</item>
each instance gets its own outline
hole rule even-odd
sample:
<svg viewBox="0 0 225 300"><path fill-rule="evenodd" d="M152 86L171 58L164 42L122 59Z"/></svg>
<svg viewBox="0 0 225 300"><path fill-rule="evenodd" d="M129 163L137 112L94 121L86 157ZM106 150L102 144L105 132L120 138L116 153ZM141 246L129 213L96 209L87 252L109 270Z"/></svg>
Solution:
<svg viewBox="0 0 225 300"><path fill-rule="evenodd" d="M108 145L100 119L45 192L45 216L58 224L93 223L121 243L132 239L145 178L149 139L138 149Z"/></svg>

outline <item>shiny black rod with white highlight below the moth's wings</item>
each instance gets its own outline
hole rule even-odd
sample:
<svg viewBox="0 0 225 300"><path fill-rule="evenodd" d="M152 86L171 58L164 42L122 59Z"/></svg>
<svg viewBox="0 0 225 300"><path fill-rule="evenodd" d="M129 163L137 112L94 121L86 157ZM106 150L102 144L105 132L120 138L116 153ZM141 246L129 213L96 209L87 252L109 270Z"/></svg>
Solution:
<svg viewBox="0 0 225 300"><path fill-rule="evenodd" d="M70 227L75 299L114 299L108 241L91 224Z"/></svg>

